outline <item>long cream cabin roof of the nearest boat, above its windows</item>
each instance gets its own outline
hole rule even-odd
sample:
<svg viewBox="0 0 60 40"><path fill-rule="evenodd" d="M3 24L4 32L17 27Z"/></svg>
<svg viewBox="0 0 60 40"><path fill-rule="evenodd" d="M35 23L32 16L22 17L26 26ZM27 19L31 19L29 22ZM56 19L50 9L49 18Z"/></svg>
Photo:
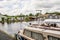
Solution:
<svg viewBox="0 0 60 40"><path fill-rule="evenodd" d="M45 32L45 33L60 35L60 31L56 31L56 30L48 30L48 29L32 28L32 27L25 27L25 29L30 30L30 31Z"/></svg>

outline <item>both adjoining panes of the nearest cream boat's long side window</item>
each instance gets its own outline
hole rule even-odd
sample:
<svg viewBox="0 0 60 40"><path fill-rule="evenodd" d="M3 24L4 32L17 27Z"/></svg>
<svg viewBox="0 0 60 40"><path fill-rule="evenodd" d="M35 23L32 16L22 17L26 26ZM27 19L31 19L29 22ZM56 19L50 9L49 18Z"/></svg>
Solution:
<svg viewBox="0 0 60 40"><path fill-rule="evenodd" d="M24 35L33 38L35 40L44 40L43 35L40 33L36 33L36 32L31 32L29 30L25 30L24 31Z"/></svg>

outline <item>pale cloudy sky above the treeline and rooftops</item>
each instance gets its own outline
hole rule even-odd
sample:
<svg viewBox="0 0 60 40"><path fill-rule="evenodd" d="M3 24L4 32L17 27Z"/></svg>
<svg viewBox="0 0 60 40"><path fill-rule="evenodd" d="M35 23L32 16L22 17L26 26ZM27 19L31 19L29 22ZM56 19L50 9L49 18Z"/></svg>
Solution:
<svg viewBox="0 0 60 40"><path fill-rule="evenodd" d="M0 0L0 13L8 15L60 11L60 0Z"/></svg>

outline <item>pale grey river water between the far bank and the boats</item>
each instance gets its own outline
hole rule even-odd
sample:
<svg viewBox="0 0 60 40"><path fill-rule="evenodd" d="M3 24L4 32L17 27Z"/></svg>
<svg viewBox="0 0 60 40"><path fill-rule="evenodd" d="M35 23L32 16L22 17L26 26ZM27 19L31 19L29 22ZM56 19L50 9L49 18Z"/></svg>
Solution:
<svg viewBox="0 0 60 40"><path fill-rule="evenodd" d="M7 32L10 35L17 33L19 30L24 29L24 27L28 26L29 23L35 24L38 23L37 21L32 22L15 22L15 23L0 23L0 30Z"/></svg>

